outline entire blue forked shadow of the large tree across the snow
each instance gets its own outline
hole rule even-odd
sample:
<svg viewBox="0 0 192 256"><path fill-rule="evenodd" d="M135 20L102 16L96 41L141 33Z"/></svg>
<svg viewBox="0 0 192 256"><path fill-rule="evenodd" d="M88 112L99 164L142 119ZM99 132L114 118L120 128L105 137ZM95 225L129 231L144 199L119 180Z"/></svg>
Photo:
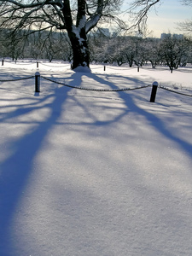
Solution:
<svg viewBox="0 0 192 256"><path fill-rule="evenodd" d="M95 80L98 84L103 84L104 86L108 86L108 88L111 89L117 89L117 85L108 80L108 78L111 77L110 75L103 75L102 78L102 75L96 75L94 73L86 73L82 75L74 73L68 78L71 79L70 84L80 86L83 81L83 75L87 76L89 79ZM115 75L112 76L115 77ZM140 81L138 79L124 79L128 79L131 84L135 84L136 86L146 85L143 81ZM16 105L16 108L13 109L13 111L8 111L8 113L5 113L0 119L3 123L14 125L15 120L22 119L23 115L28 113L30 114L32 111L39 111L42 108L42 105L43 108L49 108L50 111L49 116L42 121L38 120L32 130L27 130L25 134L22 134L22 136L16 137L14 141L9 142L9 148L13 148L12 153L1 164L0 237L2 252L4 252L3 256L9 255L9 249L12 247L12 221L15 218L15 211L17 211L17 206L20 203L20 199L23 196L32 172L35 172L35 158L38 154L39 149L42 146L42 143L44 143L44 139L49 134L49 131L51 131L51 129L57 123L57 120L61 117L62 111L65 111L62 106L67 101L67 93L69 91L71 91L71 89L67 89L66 87L60 87L55 89L55 95L51 94L44 97L35 96L33 101L28 106L27 103L20 103L20 100L23 101L23 98L17 99L16 101L18 103ZM93 92L90 95L90 92L87 93L84 91L83 96L93 98L96 96L101 96L100 93L96 93L95 95L94 94L95 93ZM82 97L82 95L80 96ZM149 113L147 110L138 107L136 101L138 98L143 99L143 101L145 102L147 102L148 99L146 99L144 96L141 96L141 94L137 95L137 91L134 91L133 93L130 93L129 91L115 92L115 96L112 97L109 96L108 93L107 95L104 95L104 97L112 99L112 101L114 97L116 99L120 99L125 104L125 108L121 111L121 113L115 115L113 119L107 121L96 119L96 116L90 113L89 107L79 101L78 95L74 94L72 96L74 104L77 104L79 108L84 109L85 115L93 120L90 125L106 125L106 129L108 129L108 125L114 122L118 122L128 113L137 113L147 119L150 125L154 126L154 129L159 131L162 136L171 139L173 142L177 143L181 148L183 148L190 156L192 156L192 145L190 143L184 142L179 137L173 135L172 131L169 131L164 125L163 121L155 114ZM31 100L30 97L28 99ZM28 99L26 98L26 100ZM10 103L9 106L7 106L6 108L15 107L14 102L15 100L13 101L13 104ZM103 107L102 110L105 111L105 107ZM63 125L65 125L65 122L63 123ZM84 125L84 120L82 120L81 125Z"/></svg>

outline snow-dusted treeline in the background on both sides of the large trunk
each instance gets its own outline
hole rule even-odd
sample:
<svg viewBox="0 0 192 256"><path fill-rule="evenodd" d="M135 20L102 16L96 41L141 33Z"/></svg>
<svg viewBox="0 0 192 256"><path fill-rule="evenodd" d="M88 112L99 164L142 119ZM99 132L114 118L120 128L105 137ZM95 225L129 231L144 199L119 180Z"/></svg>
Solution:
<svg viewBox="0 0 192 256"><path fill-rule="evenodd" d="M10 33L0 30L0 56L13 60L22 58L72 61L72 49L66 33L24 31ZM95 63L128 64L142 67L150 62L152 67L166 65L171 70L192 63L192 39L177 38L167 34L160 38L131 36L107 37L96 32L89 35L90 60Z"/></svg>

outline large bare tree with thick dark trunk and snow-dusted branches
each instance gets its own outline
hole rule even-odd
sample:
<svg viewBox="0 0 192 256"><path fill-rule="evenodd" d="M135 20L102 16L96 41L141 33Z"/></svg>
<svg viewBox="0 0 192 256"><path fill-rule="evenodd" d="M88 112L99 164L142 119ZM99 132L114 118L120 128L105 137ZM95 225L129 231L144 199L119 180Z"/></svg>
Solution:
<svg viewBox="0 0 192 256"><path fill-rule="evenodd" d="M134 24L141 30L148 10L160 0L133 0L126 11L135 17ZM119 19L123 0L0 0L0 26L12 32L67 31L73 49L72 68L90 67L87 33L98 23L113 21L126 29ZM130 22L131 20L129 20Z"/></svg>

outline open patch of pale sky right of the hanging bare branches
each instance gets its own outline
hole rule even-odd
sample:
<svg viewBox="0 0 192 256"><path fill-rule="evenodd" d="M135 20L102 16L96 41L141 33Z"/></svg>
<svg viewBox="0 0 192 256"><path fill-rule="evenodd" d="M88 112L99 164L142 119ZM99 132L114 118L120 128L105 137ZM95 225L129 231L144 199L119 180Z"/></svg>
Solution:
<svg viewBox="0 0 192 256"><path fill-rule="evenodd" d="M148 15L148 29L160 38L163 32L183 33L177 30L177 22L192 19L192 8L184 6L181 0L164 0Z"/></svg>

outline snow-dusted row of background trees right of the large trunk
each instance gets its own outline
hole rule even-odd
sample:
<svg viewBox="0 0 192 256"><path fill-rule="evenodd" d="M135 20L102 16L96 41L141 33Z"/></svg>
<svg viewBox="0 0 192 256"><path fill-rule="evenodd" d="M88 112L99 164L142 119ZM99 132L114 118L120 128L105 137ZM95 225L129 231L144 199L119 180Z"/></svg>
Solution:
<svg viewBox="0 0 192 256"><path fill-rule="evenodd" d="M130 67L142 67L150 62L153 68L166 65L172 70L192 63L192 39L172 37L171 34L163 39L96 36L90 38L90 49L91 61L115 62L119 66L128 63Z"/></svg>

